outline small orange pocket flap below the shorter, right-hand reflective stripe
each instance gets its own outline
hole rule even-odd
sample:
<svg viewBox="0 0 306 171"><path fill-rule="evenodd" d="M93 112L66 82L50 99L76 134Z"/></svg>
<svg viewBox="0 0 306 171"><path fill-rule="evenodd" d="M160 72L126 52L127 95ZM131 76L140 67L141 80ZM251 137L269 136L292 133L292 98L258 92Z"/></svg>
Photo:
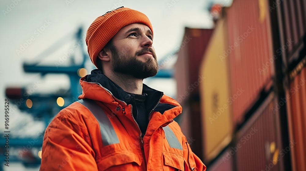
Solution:
<svg viewBox="0 0 306 171"><path fill-rule="evenodd" d="M183 156L165 151L162 152L162 155L164 156L165 165L177 168L179 170L184 170Z"/></svg>

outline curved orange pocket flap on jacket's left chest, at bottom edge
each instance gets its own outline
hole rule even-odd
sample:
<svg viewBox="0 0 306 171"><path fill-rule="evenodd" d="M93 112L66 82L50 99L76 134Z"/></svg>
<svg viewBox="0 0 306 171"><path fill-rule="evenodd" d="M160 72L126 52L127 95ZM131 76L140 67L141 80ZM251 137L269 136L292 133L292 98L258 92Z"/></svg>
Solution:
<svg viewBox="0 0 306 171"><path fill-rule="evenodd" d="M118 166L132 162L135 162L138 166L140 166L142 161L140 161L139 157L134 153L129 151L121 151L102 159L99 163L103 164L99 165L98 163L98 165L102 170L106 170L112 166Z"/></svg>

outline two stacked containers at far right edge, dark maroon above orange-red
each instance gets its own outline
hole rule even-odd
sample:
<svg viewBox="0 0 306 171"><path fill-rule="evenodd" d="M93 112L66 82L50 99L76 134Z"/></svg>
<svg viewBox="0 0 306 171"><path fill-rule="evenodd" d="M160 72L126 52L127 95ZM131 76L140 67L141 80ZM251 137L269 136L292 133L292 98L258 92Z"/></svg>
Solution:
<svg viewBox="0 0 306 171"><path fill-rule="evenodd" d="M279 5L277 52L282 54L285 70L282 101L287 100L289 142L294 145L291 165L293 171L306 170L306 2L284 0Z"/></svg>

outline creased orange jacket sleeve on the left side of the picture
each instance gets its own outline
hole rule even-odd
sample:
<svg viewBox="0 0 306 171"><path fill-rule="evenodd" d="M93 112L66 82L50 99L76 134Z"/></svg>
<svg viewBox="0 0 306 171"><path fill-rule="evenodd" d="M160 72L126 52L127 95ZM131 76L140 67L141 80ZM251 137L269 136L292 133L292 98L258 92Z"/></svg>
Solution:
<svg viewBox="0 0 306 171"><path fill-rule="evenodd" d="M65 110L55 116L44 134L40 171L98 171L87 128L80 125Z"/></svg>

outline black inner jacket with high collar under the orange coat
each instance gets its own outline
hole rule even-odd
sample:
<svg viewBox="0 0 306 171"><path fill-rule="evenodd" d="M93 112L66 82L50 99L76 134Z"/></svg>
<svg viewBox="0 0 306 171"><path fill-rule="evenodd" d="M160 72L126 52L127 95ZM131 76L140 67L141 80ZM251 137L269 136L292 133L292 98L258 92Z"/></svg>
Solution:
<svg viewBox="0 0 306 171"><path fill-rule="evenodd" d="M133 117L140 127L142 137L147 130L149 115L153 109L163 114L166 110L176 107L172 104L159 103L163 92L152 89L145 84L143 84L142 95L125 92L99 69L92 70L91 74L87 75L84 81L99 83L108 89L117 99L124 101L126 104L131 104Z"/></svg>

